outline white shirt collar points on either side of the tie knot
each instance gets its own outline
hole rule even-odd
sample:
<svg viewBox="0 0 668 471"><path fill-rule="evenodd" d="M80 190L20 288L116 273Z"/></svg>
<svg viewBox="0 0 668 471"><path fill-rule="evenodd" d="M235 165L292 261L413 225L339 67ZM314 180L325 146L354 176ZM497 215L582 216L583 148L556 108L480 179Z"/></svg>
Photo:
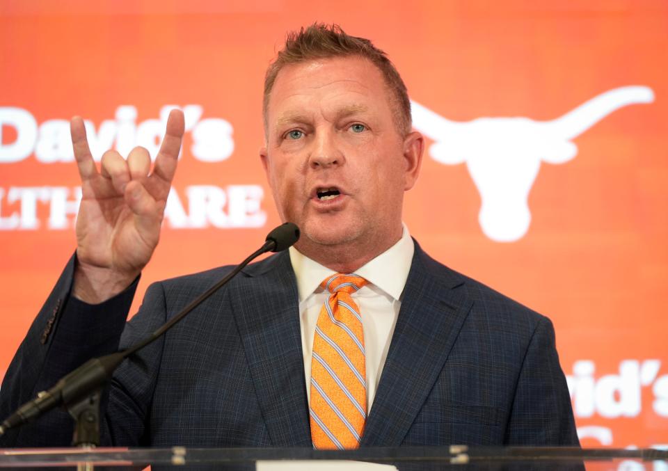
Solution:
<svg viewBox="0 0 668 471"><path fill-rule="evenodd" d="M408 227L404 224L401 239L397 244L370 260L355 273L382 289L392 298L399 299L401 293L404 292L408 271L411 270L414 251L415 244L408 232ZM306 257L294 246L289 248L289 253L301 303L315 292L322 280L336 272Z"/></svg>

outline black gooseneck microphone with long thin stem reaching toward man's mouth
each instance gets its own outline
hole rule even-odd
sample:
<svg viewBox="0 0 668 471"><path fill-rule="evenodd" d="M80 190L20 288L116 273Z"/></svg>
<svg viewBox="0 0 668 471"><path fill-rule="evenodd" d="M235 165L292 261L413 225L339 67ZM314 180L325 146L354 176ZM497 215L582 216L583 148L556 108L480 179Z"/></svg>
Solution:
<svg viewBox="0 0 668 471"><path fill-rule="evenodd" d="M198 298L191 301L181 312L172 317L169 321L161 326L158 330L152 333L149 337L140 342L128 347L125 350L111 353L111 355L102 356L100 358L92 358L84 365L74 369L70 374L63 376L53 388L48 391L42 391L37 394L37 397L23 406L19 407L15 413L10 415L0 425L0 435L9 429L22 425L26 422L32 421L40 417L43 413L60 406L61 404L69 406L76 404L78 401L86 399L90 394L95 392L102 385L111 380L114 370L120 363L128 356L136 351L143 349L143 347L157 340L167 330L172 328L178 321L186 317L189 312L195 309L209 296L214 294L218 288L222 287L230 281L239 271L244 269L253 259L267 252L281 252L296 241L299 240L299 227L293 223L284 223L274 228L267 235L264 245L258 250L250 254L246 260L234 267L227 276L218 281L214 286L210 287L202 293Z"/></svg>

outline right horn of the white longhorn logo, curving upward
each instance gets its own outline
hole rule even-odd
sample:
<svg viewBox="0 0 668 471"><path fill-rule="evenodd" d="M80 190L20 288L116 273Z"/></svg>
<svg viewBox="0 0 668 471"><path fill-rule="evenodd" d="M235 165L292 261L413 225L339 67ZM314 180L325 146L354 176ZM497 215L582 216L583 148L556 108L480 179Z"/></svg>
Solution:
<svg viewBox="0 0 668 471"><path fill-rule="evenodd" d="M613 111L637 103L651 103L654 93L645 86L628 86L613 88L601 93L587 102L584 102L573 111L561 117L546 122L552 129L557 128L557 134L565 139L572 139L595 125Z"/></svg>

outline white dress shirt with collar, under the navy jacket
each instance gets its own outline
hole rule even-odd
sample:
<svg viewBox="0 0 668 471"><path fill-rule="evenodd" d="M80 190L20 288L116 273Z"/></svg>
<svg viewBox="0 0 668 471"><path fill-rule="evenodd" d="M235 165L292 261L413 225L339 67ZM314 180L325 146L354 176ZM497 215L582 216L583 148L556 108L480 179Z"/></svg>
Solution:
<svg viewBox="0 0 668 471"><path fill-rule="evenodd" d="M351 295L360 308L364 330L367 413L371 410L385 365L385 358L388 356L392 333L395 331L399 308L401 308L401 295L404 292L408 271L411 269L414 250L413 239L404 225L403 234L397 244L355 271L357 275L369 282L368 285ZM289 252L299 290L301 349L304 355L306 394L310 404L311 355L315 325L320 309L330 295L319 285L322 280L336 272L302 255L294 247L290 247Z"/></svg>

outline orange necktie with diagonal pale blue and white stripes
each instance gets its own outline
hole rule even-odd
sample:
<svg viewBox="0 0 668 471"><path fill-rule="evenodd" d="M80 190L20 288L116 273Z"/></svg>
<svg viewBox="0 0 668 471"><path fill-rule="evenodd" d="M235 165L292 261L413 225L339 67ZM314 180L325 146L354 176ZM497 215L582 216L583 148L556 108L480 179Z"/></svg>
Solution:
<svg viewBox="0 0 668 471"><path fill-rule="evenodd" d="M320 310L311 360L311 439L316 449L357 448L367 418L364 333L350 294L368 282L337 273L321 282L331 296Z"/></svg>

